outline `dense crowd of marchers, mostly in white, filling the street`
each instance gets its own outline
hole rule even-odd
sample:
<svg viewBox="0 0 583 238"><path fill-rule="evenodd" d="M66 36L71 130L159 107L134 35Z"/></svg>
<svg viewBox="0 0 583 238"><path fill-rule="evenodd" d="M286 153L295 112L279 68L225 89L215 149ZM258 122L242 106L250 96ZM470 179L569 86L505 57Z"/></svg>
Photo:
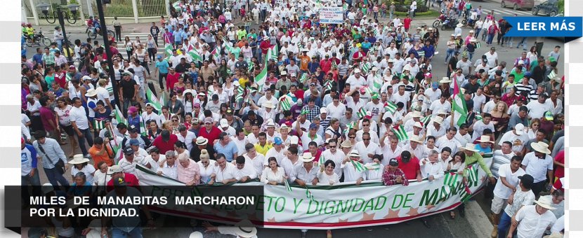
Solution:
<svg viewBox="0 0 583 238"><path fill-rule="evenodd" d="M345 22L320 24L323 6L343 6ZM450 37L412 27L414 14L400 19L395 3L180 1L147 40L111 38L112 59L91 39L74 41L78 66L60 43L38 48L22 58L22 185L40 186L42 168L46 186L70 193L138 186L141 165L186 186L407 186L447 173L466 183L466 167L478 165L492 237L562 233L561 47L545 57L537 39L516 58L499 59L495 47L474 55L485 37L512 47L511 26L469 1L440 8L476 22ZM432 73L438 50L444 76Z"/></svg>

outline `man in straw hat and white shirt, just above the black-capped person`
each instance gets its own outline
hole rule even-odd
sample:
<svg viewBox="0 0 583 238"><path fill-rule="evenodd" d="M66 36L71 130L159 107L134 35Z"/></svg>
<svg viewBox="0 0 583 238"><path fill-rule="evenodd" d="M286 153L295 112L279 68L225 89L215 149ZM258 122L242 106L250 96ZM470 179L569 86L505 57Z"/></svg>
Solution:
<svg viewBox="0 0 583 238"><path fill-rule="evenodd" d="M549 155L551 151L548 144L539 141L530 144L530 146L534 151L524 155L522 168L525 169L527 174L535 178L532 185L532 193L538 196L545 189L547 176L551 178L551 181L554 178L553 158Z"/></svg>

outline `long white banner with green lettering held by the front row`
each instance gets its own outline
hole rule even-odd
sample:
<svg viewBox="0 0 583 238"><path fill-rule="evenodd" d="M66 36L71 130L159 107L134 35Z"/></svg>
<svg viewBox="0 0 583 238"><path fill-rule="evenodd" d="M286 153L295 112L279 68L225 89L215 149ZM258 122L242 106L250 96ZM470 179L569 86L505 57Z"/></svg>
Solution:
<svg viewBox="0 0 583 238"><path fill-rule="evenodd" d="M492 158L484 160L487 166L492 164ZM180 184L147 170L145 167L136 169L140 186ZM476 193L484 183L487 183L487 174L477 164L467 172L468 188L471 193ZM409 186L383 186L380 181L365 181L360 186L354 183L341 183L334 186L308 186L307 190L292 185L292 192L285 186L265 185L264 195L259 196L258 200L263 204L263 224L266 228L355 228L401 223L455 209L462 201L471 197L466 193L466 186L461 181L461 175L446 174L438 180L412 182ZM235 184L235 186L259 185L263 183ZM185 190L192 188L185 187ZM176 216L232 223L232 216L226 213L208 216L197 214L195 211L184 211L181 207L162 209L152 207L152 209Z"/></svg>

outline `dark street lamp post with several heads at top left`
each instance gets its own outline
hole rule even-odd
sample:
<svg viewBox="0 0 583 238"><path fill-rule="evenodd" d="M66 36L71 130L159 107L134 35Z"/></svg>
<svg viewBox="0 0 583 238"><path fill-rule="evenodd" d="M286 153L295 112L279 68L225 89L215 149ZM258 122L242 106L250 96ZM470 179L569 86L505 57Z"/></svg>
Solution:
<svg viewBox="0 0 583 238"><path fill-rule="evenodd" d="M72 52L69 52L69 39L67 38L67 32L65 31L65 19L70 24L75 24L77 22L77 10L79 9L78 4L69 4L65 6L57 6L56 10L53 13L48 13L48 8L51 7L51 4L48 3L39 3L37 4L37 8L41 9L41 13L44 15L44 19L49 24L53 24L56 20L59 20L60 28L63 29L63 42L65 45L65 50L67 50L67 60L70 64L73 62ZM69 10L71 15L67 12ZM56 15L56 18L55 18ZM50 17L50 18L49 18ZM52 21L51 21L52 19Z"/></svg>

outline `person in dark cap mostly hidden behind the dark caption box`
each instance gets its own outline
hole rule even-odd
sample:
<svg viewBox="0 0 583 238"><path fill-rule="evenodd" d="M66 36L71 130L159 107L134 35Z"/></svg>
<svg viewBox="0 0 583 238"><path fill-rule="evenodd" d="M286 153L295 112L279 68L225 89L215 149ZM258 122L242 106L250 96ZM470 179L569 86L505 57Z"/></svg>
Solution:
<svg viewBox="0 0 583 238"><path fill-rule="evenodd" d="M110 180L112 182L111 186L114 189L111 190L105 197L107 200L117 200L124 197L142 197L142 193L137 188L132 188L133 184L122 176L116 176L115 179ZM110 184L107 184L110 186ZM148 226L154 228L154 218L150 214L148 209L148 204L105 204L103 209L135 209L136 211L142 211L145 218L148 220ZM141 215L140 215L141 216ZM140 217L138 216L114 216L101 218L101 236L107 237L107 225L112 223L112 237L126 237L130 235L131 237L142 237L142 226Z"/></svg>

